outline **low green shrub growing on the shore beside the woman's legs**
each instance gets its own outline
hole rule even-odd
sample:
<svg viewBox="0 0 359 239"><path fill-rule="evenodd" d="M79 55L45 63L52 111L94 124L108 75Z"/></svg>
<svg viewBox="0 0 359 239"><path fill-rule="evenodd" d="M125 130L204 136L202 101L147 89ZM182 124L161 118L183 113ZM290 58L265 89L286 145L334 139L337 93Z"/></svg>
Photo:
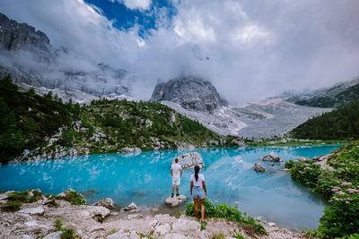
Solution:
<svg viewBox="0 0 359 239"><path fill-rule="evenodd" d="M195 217L195 205L193 201L188 202L185 206L185 213L188 216ZM200 213L200 205L198 203L198 213ZM214 204L212 201L205 199L205 217L206 218L226 218L239 224L253 226L259 233L267 235L266 229L258 223L258 220L243 215L236 207L225 203Z"/></svg>

